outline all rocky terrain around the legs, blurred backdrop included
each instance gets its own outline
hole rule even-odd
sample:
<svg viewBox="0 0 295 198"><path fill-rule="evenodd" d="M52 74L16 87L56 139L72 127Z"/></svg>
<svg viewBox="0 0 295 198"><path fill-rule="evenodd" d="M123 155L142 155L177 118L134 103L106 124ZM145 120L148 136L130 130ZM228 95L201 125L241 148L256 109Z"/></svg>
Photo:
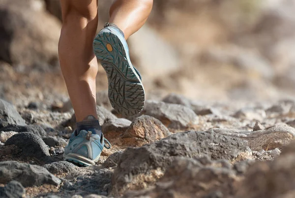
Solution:
<svg viewBox="0 0 295 198"><path fill-rule="evenodd" d="M99 1L98 30L110 4ZM294 198L294 9L155 0L128 39L145 108L117 114L99 66L97 116L112 148L79 167L62 158L75 116L59 0L0 0L0 198Z"/></svg>

